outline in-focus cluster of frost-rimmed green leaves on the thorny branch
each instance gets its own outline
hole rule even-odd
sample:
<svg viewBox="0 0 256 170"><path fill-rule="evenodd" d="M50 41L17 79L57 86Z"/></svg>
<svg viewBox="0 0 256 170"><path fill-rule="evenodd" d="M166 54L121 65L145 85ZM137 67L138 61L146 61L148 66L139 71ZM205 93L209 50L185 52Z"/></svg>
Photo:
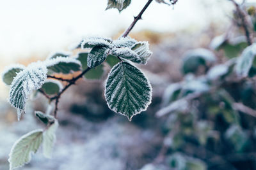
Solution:
<svg viewBox="0 0 256 170"><path fill-rule="evenodd" d="M88 73L84 74L86 79L98 79L104 74L104 62L112 67L105 85L105 97L109 108L127 116L130 121L134 115L147 109L152 98L152 87L140 69L131 62L147 64L152 55L148 49L148 42L132 38L119 38L114 41L106 38L87 38L79 48L91 50L89 53L80 52L75 57L58 52L43 62L38 61L27 67L15 64L5 69L3 81L10 85L9 101L17 108L18 120L21 113L25 113L26 101L33 92L42 92L48 96L50 102L55 97L60 97L63 85L57 81L58 78L51 79L54 78L54 74L88 70ZM17 141L10 153L10 169L29 162L30 153L35 153L41 143L47 152L45 155L49 157L52 141L48 138L55 138L52 132L56 131L58 122L51 115L44 113L36 112L36 116L47 124L46 130L30 132Z"/></svg>

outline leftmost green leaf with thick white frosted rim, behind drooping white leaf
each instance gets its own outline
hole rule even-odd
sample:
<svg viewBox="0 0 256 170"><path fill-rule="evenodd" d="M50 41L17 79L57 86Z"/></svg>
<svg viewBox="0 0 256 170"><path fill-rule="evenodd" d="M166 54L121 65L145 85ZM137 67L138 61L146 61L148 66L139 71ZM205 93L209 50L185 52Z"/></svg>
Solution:
<svg viewBox="0 0 256 170"><path fill-rule="evenodd" d="M15 78L17 73L19 73L25 68L26 67L21 64L12 64L10 66L5 67L2 73L4 83L6 83L6 85L11 85L13 78Z"/></svg>

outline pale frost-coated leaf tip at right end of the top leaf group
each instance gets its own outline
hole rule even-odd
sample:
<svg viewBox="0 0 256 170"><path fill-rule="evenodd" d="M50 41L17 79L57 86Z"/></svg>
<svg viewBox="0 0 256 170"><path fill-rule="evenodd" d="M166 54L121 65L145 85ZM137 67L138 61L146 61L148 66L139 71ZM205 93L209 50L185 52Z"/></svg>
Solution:
<svg viewBox="0 0 256 170"><path fill-rule="evenodd" d="M135 53L137 53L138 58L141 60L141 64L147 64L149 57L152 52L149 50L149 45L147 41L138 42L131 48Z"/></svg>

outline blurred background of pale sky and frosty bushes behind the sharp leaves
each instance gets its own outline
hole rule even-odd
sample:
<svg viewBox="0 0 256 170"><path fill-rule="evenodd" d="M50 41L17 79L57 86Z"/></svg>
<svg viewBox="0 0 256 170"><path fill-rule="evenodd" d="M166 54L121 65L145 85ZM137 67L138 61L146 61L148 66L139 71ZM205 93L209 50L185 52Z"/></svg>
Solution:
<svg viewBox="0 0 256 170"><path fill-rule="evenodd" d="M27 66L52 52L70 51L86 36L116 39L146 2L133 0L119 13L105 11L107 0L1 1L0 72L13 63ZM255 3L248 0L243 6L252 11L252 25ZM153 2L129 34L149 41L153 52L148 64L139 66L153 87L148 110L129 122L108 109L103 95L107 73L99 81L81 80L60 99L52 159L39 151L20 169L256 169L255 116L232 105L242 103L254 111L255 81L220 85L209 80L212 67L231 62L248 46L236 17L230 1L180 0L175 6ZM210 76L216 78L229 67L217 67ZM211 86L216 89L209 91ZM47 105L42 96L31 99L17 122L8 92L1 81L0 169L8 169L8 153L20 136L44 127L34 110L44 111ZM162 110L193 92L206 94Z"/></svg>

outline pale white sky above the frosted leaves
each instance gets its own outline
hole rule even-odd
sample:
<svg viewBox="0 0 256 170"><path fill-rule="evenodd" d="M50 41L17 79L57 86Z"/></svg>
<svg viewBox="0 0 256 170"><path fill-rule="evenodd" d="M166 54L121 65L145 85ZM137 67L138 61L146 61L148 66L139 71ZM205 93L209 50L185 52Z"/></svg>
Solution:
<svg viewBox="0 0 256 170"><path fill-rule="evenodd" d="M180 0L174 8L150 4L133 31L175 31L189 25L204 27L209 20L227 19L231 5L224 0ZM122 13L105 11L107 0L0 0L0 58L13 62L31 53L63 48L84 36L111 36L131 24L147 0L133 0ZM221 4L221 5L220 5Z"/></svg>

